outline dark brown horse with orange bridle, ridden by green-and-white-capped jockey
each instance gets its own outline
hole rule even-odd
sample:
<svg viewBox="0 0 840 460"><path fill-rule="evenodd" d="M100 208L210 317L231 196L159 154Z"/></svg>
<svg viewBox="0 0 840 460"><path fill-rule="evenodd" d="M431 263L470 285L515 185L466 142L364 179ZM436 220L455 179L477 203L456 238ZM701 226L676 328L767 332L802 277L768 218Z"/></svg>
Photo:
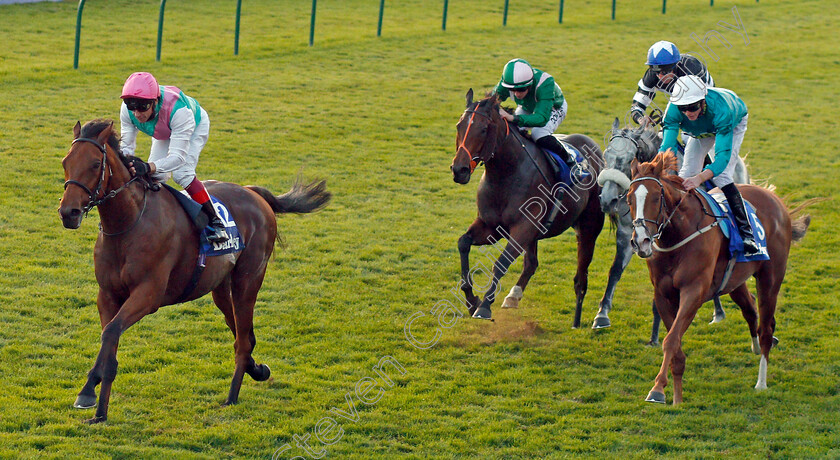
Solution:
<svg viewBox="0 0 840 460"><path fill-rule="evenodd" d="M581 308L588 285L589 264L595 240L604 226L604 213L598 205L599 187L595 182L603 160L601 149L587 136L573 134L564 140L574 145L590 165L591 181L575 182L573 187L558 183L539 147L499 115L499 99L490 95L473 102L473 91L466 95L466 110L457 124L457 149L450 169L459 184L470 181L478 163L484 174L478 185L478 217L458 239L461 255L460 287L470 314L491 319L490 306L500 289L499 280L510 264L525 253L522 275L505 298L503 308L519 305L522 293L537 269L537 242L563 233L569 227L577 234L577 273L573 327L580 326ZM469 254L471 246L507 245L493 264L492 277L483 301L473 294ZM497 246L498 245L498 246ZM489 269L486 269L489 275Z"/></svg>

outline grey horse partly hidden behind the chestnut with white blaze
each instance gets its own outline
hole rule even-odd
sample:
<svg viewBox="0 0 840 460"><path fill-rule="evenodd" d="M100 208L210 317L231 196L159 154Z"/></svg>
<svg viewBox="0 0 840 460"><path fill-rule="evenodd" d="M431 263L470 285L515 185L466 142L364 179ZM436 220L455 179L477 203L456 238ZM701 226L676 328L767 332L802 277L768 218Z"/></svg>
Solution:
<svg viewBox="0 0 840 460"><path fill-rule="evenodd" d="M662 144L662 137L659 130L639 126L635 129L619 129L618 118L613 122L612 129L608 133L608 145L604 150L604 161L606 165L598 175L598 184L601 186L601 210L610 216L610 221L615 225L616 254L610 267L610 276L607 281L607 289L601 299L598 314L592 323L592 329L610 327L609 313L612 310L612 299L618 280L621 279L624 269L630 263L633 250L630 247L630 235L633 233L631 223L630 205L627 204L625 194L630 188L630 162L636 158L641 162L650 161L659 151ZM712 149L714 152L714 149ZM682 165L682 152L677 153L677 160ZM742 158L738 158L735 167L734 181L737 184L748 184L749 174ZM659 313L653 305L653 326L650 333L648 345L659 343ZM712 323L723 321L726 313L715 298L715 313Z"/></svg>

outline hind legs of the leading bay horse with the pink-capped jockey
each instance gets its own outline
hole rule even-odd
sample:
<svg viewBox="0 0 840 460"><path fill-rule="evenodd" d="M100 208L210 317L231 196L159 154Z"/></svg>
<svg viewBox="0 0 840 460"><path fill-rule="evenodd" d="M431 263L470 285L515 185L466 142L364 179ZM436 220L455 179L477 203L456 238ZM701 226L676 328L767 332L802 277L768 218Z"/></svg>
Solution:
<svg viewBox="0 0 840 460"><path fill-rule="evenodd" d="M257 293L262 286L265 277L267 261L261 261L261 265L251 267L242 261L234 268L231 284L231 295L233 300L233 317L235 321L235 340L233 349L235 354L235 367L233 379L230 382L230 392L223 405L236 404L239 401L239 390L242 387L242 378L248 373L254 380L262 381L268 379L271 370L265 364L256 364L251 353L257 344L254 336L254 304L257 301ZM214 292L214 300L216 298ZM220 297L223 297L220 295ZM220 307L221 308L221 307ZM222 310L224 311L224 310Z"/></svg>

